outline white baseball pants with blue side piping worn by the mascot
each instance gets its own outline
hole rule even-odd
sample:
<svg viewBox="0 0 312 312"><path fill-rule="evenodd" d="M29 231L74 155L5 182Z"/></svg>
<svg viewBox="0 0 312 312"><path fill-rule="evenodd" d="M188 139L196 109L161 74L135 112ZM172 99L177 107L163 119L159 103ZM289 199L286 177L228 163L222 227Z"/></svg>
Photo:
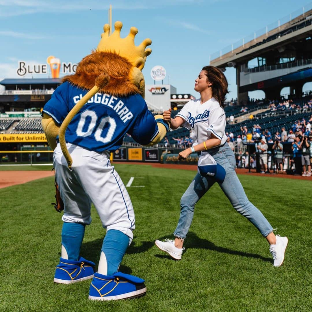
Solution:
<svg viewBox="0 0 312 312"><path fill-rule="evenodd" d="M119 230L133 239L135 217L129 194L109 153L97 153L67 143L73 159L72 169L57 144L53 154L56 181L64 202L64 222L91 223L91 202L107 230Z"/></svg>

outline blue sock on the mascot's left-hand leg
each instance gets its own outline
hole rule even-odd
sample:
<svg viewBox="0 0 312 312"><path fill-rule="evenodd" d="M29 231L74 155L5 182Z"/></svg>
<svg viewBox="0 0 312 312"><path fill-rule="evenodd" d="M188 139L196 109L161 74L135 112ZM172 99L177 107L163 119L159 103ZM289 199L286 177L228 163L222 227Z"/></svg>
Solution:
<svg viewBox="0 0 312 312"><path fill-rule="evenodd" d="M62 228L62 245L65 247L69 260L77 261L85 235L85 225L64 222Z"/></svg>

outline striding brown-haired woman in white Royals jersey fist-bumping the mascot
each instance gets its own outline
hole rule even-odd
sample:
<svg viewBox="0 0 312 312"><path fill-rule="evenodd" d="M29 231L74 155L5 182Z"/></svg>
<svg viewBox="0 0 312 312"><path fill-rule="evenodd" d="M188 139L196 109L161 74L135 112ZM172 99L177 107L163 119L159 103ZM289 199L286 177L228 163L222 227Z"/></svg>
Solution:
<svg viewBox="0 0 312 312"><path fill-rule="evenodd" d="M270 244L270 252L274 266L281 266L284 261L287 237L275 236L271 224L263 214L249 202L243 187L235 173L235 156L227 144L224 132L226 116L224 100L228 93L227 79L217 67L205 66L195 80L194 90L200 93L200 98L188 102L174 119L171 109L163 113L164 119L170 122L172 129L181 125L193 129L196 135L191 148L179 153L180 159L186 159L192 152L207 153L221 165L226 172L223 182L218 182L222 191L233 207L252 224ZM207 152L206 152L207 151ZM175 240L159 241L156 246L167 252L174 259L180 260L183 253L183 242L191 226L195 204L211 188L216 179L196 174L186 192L181 198L181 212L178 226L174 231Z"/></svg>

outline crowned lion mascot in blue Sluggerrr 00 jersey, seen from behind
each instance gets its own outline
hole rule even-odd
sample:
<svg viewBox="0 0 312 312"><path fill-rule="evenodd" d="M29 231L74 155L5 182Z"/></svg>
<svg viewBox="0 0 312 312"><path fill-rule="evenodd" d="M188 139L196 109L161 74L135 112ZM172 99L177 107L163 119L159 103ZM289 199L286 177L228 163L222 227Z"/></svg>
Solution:
<svg viewBox="0 0 312 312"><path fill-rule="evenodd" d="M142 74L151 49L150 39L134 45L138 30L120 37L121 22L109 36L104 26L95 51L85 56L74 75L65 76L42 111L42 127L54 150L56 182L64 203L61 258L54 282L76 283L93 279L89 299L118 300L144 295L139 277L119 272L133 239L135 217L129 194L110 164L126 133L151 146L169 130L162 115L153 116L144 101ZM91 222L91 203L106 235L95 263L80 256L85 226Z"/></svg>

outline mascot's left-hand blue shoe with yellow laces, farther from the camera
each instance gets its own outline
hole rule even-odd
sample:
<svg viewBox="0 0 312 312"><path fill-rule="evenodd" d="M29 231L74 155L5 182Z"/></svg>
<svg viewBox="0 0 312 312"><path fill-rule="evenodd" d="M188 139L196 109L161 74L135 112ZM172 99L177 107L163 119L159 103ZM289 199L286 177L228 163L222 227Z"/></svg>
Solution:
<svg viewBox="0 0 312 312"><path fill-rule="evenodd" d="M79 257L78 261L60 258L60 264L56 266L54 282L60 284L72 284L81 280L89 280L94 276L95 263Z"/></svg>

